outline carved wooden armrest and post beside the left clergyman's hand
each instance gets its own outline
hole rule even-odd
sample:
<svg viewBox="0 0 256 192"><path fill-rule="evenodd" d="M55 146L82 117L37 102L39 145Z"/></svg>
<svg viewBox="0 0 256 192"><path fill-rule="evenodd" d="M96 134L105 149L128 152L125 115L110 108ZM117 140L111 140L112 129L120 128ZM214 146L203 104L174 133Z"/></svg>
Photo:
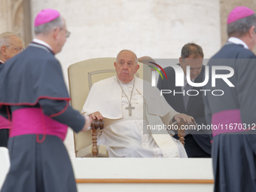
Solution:
<svg viewBox="0 0 256 192"><path fill-rule="evenodd" d="M92 130L92 140L93 140L93 157L97 157L98 154L98 148L97 148L97 135L98 130L102 130L104 127L103 120L93 120L93 123L91 123L91 130Z"/></svg>

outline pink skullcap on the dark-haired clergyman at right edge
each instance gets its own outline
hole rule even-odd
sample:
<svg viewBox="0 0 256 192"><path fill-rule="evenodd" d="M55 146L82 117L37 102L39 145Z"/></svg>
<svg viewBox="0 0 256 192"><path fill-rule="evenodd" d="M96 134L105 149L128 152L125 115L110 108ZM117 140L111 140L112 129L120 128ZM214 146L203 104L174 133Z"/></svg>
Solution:
<svg viewBox="0 0 256 192"><path fill-rule="evenodd" d="M227 24L233 23L236 20L240 20L245 17L249 17L254 14L250 8L239 6L234 8L227 17Z"/></svg>

